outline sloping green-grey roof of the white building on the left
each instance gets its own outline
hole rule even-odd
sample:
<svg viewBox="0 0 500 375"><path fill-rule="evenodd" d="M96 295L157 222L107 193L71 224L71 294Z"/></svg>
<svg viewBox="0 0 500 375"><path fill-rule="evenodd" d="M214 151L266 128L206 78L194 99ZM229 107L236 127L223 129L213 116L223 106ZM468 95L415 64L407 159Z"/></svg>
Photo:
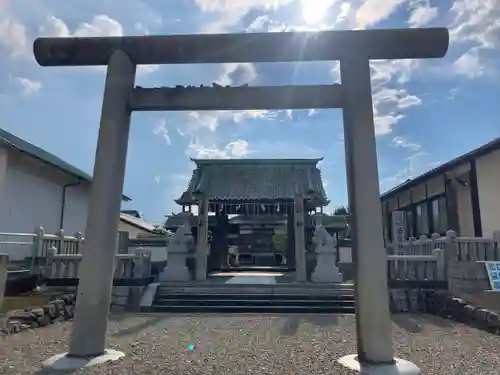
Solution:
<svg viewBox="0 0 500 375"><path fill-rule="evenodd" d="M92 182L92 176L83 172L82 170L72 166L69 163L66 163L61 158L47 152L40 147L37 147L17 136L11 134L3 129L0 129L0 143L4 145L14 148L20 152L25 153L35 159L38 159L50 166L57 168L73 177L76 177L79 180L83 180L86 182ZM124 201L130 201L131 199L127 196L123 196Z"/></svg>

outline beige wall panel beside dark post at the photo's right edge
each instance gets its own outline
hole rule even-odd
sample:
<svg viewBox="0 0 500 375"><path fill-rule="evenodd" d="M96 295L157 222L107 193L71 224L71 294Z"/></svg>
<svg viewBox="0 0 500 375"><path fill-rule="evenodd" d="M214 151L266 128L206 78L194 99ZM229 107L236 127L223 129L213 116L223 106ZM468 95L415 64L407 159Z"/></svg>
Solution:
<svg viewBox="0 0 500 375"><path fill-rule="evenodd" d="M500 150L476 160L483 237L500 229Z"/></svg>

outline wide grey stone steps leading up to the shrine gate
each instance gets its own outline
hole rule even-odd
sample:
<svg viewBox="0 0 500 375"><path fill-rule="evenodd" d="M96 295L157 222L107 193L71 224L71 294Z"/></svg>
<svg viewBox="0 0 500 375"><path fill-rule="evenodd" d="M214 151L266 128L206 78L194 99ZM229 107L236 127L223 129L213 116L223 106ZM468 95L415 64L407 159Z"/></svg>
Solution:
<svg viewBox="0 0 500 375"><path fill-rule="evenodd" d="M353 314L352 284L163 284L142 312Z"/></svg>

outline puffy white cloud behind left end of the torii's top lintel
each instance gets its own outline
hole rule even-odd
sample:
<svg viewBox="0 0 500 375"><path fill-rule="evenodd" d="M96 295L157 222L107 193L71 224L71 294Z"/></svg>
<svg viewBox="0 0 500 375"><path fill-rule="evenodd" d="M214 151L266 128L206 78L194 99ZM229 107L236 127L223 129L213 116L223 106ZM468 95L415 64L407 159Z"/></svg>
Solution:
<svg viewBox="0 0 500 375"><path fill-rule="evenodd" d="M103 37L103 36L123 36L123 26L115 19L99 14L94 16L91 22L80 23L73 33L70 32L66 23L54 16L47 17L45 23L40 27L42 36L47 37ZM106 67L90 67L101 72L106 71ZM145 75L158 70L158 65L139 65L138 75Z"/></svg>

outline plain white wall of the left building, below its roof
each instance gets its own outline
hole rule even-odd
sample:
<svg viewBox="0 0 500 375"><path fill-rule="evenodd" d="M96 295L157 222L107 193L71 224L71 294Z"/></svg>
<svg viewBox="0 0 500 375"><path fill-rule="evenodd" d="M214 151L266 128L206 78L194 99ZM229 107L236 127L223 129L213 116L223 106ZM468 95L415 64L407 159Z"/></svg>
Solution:
<svg viewBox="0 0 500 375"><path fill-rule="evenodd" d="M63 186L75 178L25 154L0 148L0 232L60 229ZM6 166L6 168L5 168ZM90 186L68 187L63 229L84 232Z"/></svg>

